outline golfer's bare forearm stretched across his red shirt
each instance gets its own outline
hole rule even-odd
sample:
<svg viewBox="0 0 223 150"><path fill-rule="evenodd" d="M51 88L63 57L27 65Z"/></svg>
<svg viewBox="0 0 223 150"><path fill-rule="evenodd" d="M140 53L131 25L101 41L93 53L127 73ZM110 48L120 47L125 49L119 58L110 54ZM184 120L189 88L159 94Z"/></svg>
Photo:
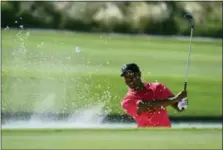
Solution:
<svg viewBox="0 0 223 150"><path fill-rule="evenodd" d="M167 107L167 106L172 106L176 104L178 100L175 97L170 97L165 100L153 100L153 101L140 101L138 103L138 109L137 113L141 113L144 111L152 110L152 109L157 109L160 107Z"/></svg>

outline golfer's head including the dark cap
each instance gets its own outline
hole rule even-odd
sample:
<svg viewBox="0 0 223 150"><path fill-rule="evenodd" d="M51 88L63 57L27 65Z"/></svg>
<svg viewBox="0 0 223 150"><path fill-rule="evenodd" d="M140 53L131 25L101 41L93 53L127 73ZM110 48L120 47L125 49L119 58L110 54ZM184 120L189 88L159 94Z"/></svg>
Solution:
<svg viewBox="0 0 223 150"><path fill-rule="evenodd" d="M121 69L121 76L124 77L126 85L130 88L136 88L141 82L141 71L137 64L124 64Z"/></svg>

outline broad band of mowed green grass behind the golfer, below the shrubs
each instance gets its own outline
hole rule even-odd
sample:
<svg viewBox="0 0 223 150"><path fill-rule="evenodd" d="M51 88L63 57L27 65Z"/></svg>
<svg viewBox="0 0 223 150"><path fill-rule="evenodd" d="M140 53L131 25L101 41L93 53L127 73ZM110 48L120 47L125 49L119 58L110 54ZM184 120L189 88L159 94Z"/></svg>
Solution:
<svg viewBox="0 0 223 150"><path fill-rule="evenodd" d="M74 110L97 103L124 114L124 63L137 63L143 80L183 89L188 40L34 30L2 32L3 111ZM80 50L80 52L79 52ZM222 43L193 41L189 107L181 116L222 114Z"/></svg>

